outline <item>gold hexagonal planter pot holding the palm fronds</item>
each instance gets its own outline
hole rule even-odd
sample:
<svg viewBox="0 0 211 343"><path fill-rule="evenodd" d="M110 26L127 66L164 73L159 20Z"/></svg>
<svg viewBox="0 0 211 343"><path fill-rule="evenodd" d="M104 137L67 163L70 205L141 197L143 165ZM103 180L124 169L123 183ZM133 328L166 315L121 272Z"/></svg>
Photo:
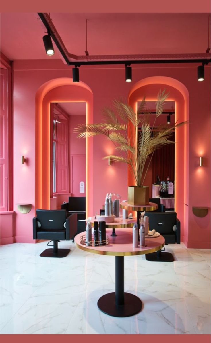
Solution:
<svg viewBox="0 0 211 343"><path fill-rule="evenodd" d="M128 186L128 203L131 205L148 205L149 187Z"/></svg>

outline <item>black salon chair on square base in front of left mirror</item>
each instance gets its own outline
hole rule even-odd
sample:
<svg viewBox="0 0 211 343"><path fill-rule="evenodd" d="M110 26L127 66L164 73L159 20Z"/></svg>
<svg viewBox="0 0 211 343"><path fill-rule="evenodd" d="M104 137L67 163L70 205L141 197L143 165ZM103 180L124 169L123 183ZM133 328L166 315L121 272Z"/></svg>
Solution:
<svg viewBox="0 0 211 343"><path fill-rule="evenodd" d="M45 249L41 257L66 257L70 249L58 249L60 240L70 240L77 233L77 214L67 217L66 210L36 210L33 239L53 240L53 249Z"/></svg>

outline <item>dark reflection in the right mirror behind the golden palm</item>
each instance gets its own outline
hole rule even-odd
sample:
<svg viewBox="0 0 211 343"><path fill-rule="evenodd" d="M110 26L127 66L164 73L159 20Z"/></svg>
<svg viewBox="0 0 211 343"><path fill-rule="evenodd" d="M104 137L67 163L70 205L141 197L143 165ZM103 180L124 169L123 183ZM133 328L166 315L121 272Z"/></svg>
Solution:
<svg viewBox="0 0 211 343"><path fill-rule="evenodd" d="M137 102L139 108L140 102ZM164 103L163 113L155 121L156 106L154 101L146 102L147 112L150 112L150 125L152 135L158 132L158 126L170 126L175 123L175 102L166 101ZM139 128L139 131L141 128ZM169 140L175 141L174 133L169 137ZM146 162L143 177L144 186L149 186L149 197L160 198L160 202L166 206L167 211L174 210L174 156L175 144L168 144L155 150L154 154L148 157ZM148 167L149 161L150 165ZM165 182L163 182L165 181ZM168 181L168 182L167 182ZM173 183L172 189L169 191L169 181ZM162 186L162 188L161 188ZM165 189L164 189L165 188Z"/></svg>

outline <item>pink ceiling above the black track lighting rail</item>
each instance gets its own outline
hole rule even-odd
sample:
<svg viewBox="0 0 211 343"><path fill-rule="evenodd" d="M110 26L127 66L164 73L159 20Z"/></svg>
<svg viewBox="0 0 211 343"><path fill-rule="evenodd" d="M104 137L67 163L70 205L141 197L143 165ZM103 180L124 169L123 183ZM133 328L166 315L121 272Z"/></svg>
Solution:
<svg viewBox="0 0 211 343"><path fill-rule="evenodd" d="M84 55L88 19L90 55L205 52L207 13L51 13L67 50ZM58 59L44 51L37 13L1 13L1 51L14 59Z"/></svg>

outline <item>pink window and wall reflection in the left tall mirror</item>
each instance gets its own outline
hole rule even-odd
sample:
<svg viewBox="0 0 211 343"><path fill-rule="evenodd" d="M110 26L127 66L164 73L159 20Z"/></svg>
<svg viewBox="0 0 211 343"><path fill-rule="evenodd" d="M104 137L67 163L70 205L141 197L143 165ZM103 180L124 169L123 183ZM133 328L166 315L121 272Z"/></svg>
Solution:
<svg viewBox="0 0 211 343"><path fill-rule="evenodd" d="M86 103L51 103L50 209L61 209L69 197L85 197L86 142L74 128L86 122Z"/></svg>

